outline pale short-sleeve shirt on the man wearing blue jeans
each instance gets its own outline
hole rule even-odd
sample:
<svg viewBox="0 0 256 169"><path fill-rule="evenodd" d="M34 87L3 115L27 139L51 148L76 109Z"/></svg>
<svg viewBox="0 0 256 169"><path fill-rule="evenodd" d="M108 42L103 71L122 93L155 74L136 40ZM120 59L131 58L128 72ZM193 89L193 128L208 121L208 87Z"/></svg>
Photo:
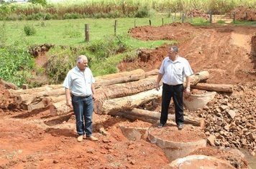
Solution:
<svg viewBox="0 0 256 169"><path fill-rule="evenodd" d="M84 72L76 66L68 71L67 76L63 82L63 87L70 89L75 96L89 96L92 95L91 85L95 83L91 69L86 67Z"/></svg>

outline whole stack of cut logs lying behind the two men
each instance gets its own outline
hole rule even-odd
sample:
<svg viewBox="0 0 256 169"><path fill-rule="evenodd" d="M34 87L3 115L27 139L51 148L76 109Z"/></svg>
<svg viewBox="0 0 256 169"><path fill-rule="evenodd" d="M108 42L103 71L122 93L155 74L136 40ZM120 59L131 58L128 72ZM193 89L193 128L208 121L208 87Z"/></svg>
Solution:
<svg viewBox="0 0 256 169"><path fill-rule="evenodd" d="M159 118L158 112L147 112L136 109L152 100L161 97L162 92L155 90L155 81L158 70L154 69L145 72L142 69L135 69L130 72L119 72L96 77L96 100L94 111L96 114L123 115L127 118L148 119ZM203 71L192 75L191 87L200 90L214 90L230 92L232 87L225 87L223 84L198 83L206 81L209 72ZM28 110L38 110L48 107L50 114L65 115L73 110L65 105L65 90L62 84L47 85L28 90L6 90L3 94L4 100L13 100L20 108ZM7 105L4 105L7 104ZM8 107L8 102L1 102L1 106ZM120 114L121 113L121 114ZM129 116L129 117L128 117ZM144 117L145 116L145 117ZM173 118L173 117L170 117ZM202 125L201 120L186 118L187 122Z"/></svg>

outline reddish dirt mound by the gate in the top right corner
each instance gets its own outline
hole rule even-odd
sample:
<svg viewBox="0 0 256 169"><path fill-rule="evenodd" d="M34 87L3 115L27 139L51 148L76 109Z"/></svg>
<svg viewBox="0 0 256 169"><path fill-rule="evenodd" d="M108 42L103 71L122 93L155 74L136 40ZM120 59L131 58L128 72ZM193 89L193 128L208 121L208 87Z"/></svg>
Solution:
<svg viewBox="0 0 256 169"><path fill-rule="evenodd" d="M234 14L235 19L239 21L256 21L256 10L252 7L248 8L244 6L239 6L238 8L229 11L226 16L233 18Z"/></svg>

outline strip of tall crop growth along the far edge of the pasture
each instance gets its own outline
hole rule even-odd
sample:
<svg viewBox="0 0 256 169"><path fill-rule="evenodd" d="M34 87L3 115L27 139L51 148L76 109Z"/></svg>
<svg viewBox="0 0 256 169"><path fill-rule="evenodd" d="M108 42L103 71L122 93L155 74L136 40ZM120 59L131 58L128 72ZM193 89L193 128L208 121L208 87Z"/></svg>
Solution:
<svg viewBox="0 0 256 169"><path fill-rule="evenodd" d="M255 0L98 0L76 1L66 4L46 4L45 0L30 0L32 3L23 5L0 4L0 19L31 20L31 19L81 19L81 18L116 18L116 17L147 17L152 11L157 12L188 12L201 9L206 13L224 14L237 6L256 9Z"/></svg>

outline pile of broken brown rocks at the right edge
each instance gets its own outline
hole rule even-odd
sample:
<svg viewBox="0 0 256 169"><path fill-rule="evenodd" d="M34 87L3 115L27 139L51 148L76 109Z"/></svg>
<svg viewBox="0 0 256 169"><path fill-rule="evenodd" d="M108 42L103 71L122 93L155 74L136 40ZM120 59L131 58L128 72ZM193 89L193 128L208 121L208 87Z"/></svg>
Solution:
<svg viewBox="0 0 256 169"><path fill-rule="evenodd" d="M232 95L217 94L197 110L205 118L205 134L210 145L256 150L256 84L239 84ZM193 112L192 112L193 113Z"/></svg>

